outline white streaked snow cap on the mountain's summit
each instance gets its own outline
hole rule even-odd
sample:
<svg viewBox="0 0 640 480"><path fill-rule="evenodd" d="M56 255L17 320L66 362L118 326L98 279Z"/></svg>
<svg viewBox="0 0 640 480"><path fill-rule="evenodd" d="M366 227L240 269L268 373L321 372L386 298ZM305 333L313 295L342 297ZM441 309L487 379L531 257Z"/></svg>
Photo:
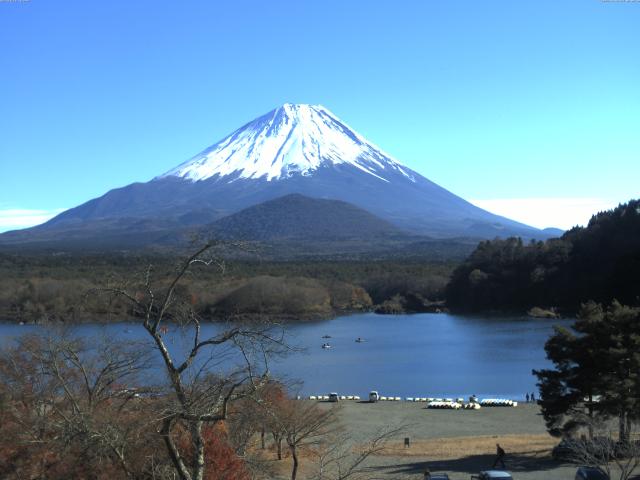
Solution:
<svg viewBox="0 0 640 480"><path fill-rule="evenodd" d="M321 105L285 103L253 120L159 178L199 181L216 175L280 180L321 166L350 164L383 181L413 172Z"/></svg>

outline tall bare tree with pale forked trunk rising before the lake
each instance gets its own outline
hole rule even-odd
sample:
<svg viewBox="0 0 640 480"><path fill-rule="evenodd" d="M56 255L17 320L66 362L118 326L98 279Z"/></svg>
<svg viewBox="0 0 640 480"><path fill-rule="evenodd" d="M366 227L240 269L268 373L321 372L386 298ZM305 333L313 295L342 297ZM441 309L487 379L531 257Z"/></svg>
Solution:
<svg viewBox="0 0 640 480"><path fill-rule="evenodd" d="M274 334L270 325L231 324L211 336L202 335L199 315L188 296L180 294L181 281L198 267L223 270L224 262L212 253L217 245L208 243L189 256L164 286L154 284L149 267L139 288L102 290L130 302L162 358L170 395L161 412L159 433L181 480L203 479L203 427L225 420L233 402L256 392L269 378L268 358L286 350L282 332ZM165 339L169 328L178 325L190 337L184 355L172 351ZM186 447L176 442L179 429L188 432Z"/></svg>

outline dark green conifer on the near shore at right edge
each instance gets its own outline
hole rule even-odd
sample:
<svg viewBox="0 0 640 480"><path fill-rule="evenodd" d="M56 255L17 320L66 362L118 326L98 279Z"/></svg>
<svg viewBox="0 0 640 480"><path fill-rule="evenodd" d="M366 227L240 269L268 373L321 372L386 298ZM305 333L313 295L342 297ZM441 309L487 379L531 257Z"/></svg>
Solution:
<svg viewBox="0 0 640 480"><path fill-rule="evenodd" d="M583 305L573 329L556 327L545 345L553 369L534 370L553 435L571 435L617 418L628 438L640 412L640 308L614 301Z"/></svg>

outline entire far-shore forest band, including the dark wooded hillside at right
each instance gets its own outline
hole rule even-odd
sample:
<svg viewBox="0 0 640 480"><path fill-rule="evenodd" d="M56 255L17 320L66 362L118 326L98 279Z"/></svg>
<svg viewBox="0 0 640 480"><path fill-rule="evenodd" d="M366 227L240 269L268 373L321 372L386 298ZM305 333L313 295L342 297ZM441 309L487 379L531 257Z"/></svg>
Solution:
<svg viewBox="0 0 640 480"><path fill-rule="evenodd" d="M400 253L400 252L399 252ZM20 322L123 320L125 306L95 292L141 285L176 268L169 255L0 254L0 319ZM260 260L249 255L198 269L184 293L204 318L319 318L382 313L515 311L574 314L593 300L640 304L640 201L594 215L561 238L483 241L464 261L386 259ZM539 308L538 308L539 307Z"/></svg>

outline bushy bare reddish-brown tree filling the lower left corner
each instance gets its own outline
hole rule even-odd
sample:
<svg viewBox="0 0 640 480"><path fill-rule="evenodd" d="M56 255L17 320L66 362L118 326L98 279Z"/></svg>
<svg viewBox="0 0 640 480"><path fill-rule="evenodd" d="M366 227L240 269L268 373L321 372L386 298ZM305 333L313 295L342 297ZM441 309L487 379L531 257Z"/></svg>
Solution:
<svg viewBox="0 0 640 480"><path fill-rule="evenodd" d="M136 477L143 467L140 451L131 450L148 444L141 437L150 425L142 415L144 400L127 386L138 382L148 361L138 346L99 339L90 344L69 335L28 335L4 349L2 441L24 448L27 456L15 458L16 468L0 472L3 478L22 477L25 470L65 478L97 465L117 477ZM14 436L7 439L12 426Z"/></svg>

